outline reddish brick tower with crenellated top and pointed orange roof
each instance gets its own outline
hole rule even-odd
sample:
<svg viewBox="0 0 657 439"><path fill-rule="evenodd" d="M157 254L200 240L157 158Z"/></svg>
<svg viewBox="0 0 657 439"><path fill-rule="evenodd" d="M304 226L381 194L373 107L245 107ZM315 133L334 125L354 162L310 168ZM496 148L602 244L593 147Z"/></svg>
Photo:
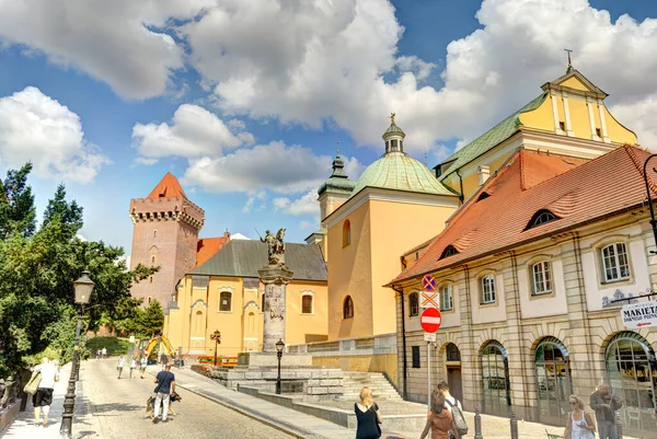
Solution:
<svg viewBox="0 0 657 439"><path fill-rule="evenodd" d="M135 224L130 268L138 264L160 266L153 276L132 286L132 297L143 298L145 305L158 299L166 309L178 279L196 265L204 217L204 210L189 201L169 172L148 197L130 199Z"/></svg>

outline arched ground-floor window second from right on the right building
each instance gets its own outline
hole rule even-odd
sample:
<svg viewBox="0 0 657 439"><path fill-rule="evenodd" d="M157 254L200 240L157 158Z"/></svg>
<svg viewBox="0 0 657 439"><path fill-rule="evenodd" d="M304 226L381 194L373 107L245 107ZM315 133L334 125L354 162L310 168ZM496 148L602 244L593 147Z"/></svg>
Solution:
<svg viewBox="0 0 657 439"><path fill-rule="evenodd" d="M534 353L541 421L561 423L573 393L568 350L558 338L545 337Z"/></svg>

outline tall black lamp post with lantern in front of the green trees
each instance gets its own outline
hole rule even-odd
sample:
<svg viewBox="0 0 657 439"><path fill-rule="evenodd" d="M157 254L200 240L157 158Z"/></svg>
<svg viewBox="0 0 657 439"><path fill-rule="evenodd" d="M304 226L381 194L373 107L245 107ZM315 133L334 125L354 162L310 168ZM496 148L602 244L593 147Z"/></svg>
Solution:
<svg viewBox="0 0 657 439"><path fill-rule="evenodd" d="M82 276L73 282L76 303L80 308L78 310L78 326L76 327L76 346L73 347L73 358L71 359L71 376L64 400L64 414L61 415L61 428L59 429L59 434L64 438L70 438L72 432L73 407L76 406L76 380L78 378L77 370L80 355L80 331L82 328L82 307L89 303L94 285L89 278L89 272L82 272Z"/></svg>

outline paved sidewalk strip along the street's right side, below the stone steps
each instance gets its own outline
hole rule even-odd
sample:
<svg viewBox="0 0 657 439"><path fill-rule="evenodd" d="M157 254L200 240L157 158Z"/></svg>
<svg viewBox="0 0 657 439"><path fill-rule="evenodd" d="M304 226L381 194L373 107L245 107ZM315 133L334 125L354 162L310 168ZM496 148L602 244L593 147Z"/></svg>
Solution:
<svg viewBox="0 0 657 439"><path fill-rule="evenodd" d="M155 374L160 369L149 366L148 371ZM243 415L255 418L274 428L278 428L297 438L345 439L356 436L356 431L341 427L328 420L310 416L255 396L229 390L218 382L193 372L189 369L173 369L176 385L189 392L205 396ZM383 431L382 438L410 439L406 436Z"/></svg>

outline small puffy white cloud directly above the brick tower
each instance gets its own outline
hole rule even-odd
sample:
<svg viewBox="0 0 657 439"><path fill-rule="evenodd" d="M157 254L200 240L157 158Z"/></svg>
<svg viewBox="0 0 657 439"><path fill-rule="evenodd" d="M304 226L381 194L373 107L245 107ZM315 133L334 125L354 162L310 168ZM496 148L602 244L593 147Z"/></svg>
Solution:
<svg viewBox="0 0 657 439"><path fill-rule="evenodd" d="M136 124L132 139L143 164L152 164L153 160L170 155L198 158L220 154L226 148L254 141L251 134L235 135L215 114L191 104L181 105L171 124Z"/></svg>

